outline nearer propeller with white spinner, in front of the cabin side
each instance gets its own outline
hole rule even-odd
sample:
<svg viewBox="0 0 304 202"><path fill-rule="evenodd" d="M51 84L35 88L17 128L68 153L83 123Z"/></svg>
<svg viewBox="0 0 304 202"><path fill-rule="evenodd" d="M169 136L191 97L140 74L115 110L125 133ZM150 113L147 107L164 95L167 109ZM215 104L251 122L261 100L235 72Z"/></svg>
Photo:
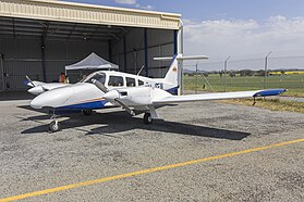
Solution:
<svg viewBox="0 0 304 202"><path fill-rule="evenodd" d="M105 92L104 98L109 101L115 101L119 103L129 114L135 116L135 112L129 108L122 100L120 100L120 92L118 90L109 90L104 84L96 79L92 79L92 83L102 92Z"/></svg>

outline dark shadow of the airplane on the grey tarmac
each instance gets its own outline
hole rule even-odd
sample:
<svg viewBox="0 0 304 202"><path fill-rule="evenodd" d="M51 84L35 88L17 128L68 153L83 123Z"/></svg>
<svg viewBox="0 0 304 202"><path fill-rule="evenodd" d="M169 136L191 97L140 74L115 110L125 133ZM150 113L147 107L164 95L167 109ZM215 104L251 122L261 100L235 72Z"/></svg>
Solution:
<svg viewBox="0 0 304 202"><path fill-rule="evenodd" d="M45 115L32 116L26 118L26 121L45 119ZM167 121L154 121L151 125L144 125L142 117L131 117L123 111L119 112L106 112L96 113L90 116L84 116L80 114L70 115L69 119L60 122L62 130L69 128L76 128L78 130L85 131L86 135L105 135L105 136L119 136L118 132L129 131L132 129L142 129L146 131L162 131L162 132L173 132L180 135L189 136L199 136L199 137L210 137L219 139L229 140L242 140L250 136L248 132L211 128L206 126L197 126L192 124L183 124L177 122ZM93 129L84 129L82 127L88 125L101 125L100 127ZM45 132L48 129L48 125L40 125L34 128L23 130L21 134L38 134Z"/></svg>

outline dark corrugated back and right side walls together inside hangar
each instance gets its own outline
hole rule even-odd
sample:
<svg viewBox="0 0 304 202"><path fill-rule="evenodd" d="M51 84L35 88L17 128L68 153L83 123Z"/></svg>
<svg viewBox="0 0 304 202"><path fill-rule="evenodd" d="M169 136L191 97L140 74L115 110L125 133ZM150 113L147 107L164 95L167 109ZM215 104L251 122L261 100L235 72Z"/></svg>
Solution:
<svg viewBox="0 0 304 202"><path fill-rule="evenodd" d="M120 65L120 71L137 74L145 64L144 28L133 28L117 42L108 41L56 40L45 41L46 81L59 79L64 66L87 56L93 51L106 60ZM154 61L155 56L174 54L173 30L147 29L148 68L150 77L163 77L170 62ZM0 35L0 53L4 55L4 90L24 90L25 75L44 80L41 39L39 37L8 37ZM125 52L125 53L124 53ZM126 59L126 60L125 60ZM86 73L87 74L87 73ZM70 81L75 83L81 72L70 71ZM143 70L141 75L145 75Z"/></svg>

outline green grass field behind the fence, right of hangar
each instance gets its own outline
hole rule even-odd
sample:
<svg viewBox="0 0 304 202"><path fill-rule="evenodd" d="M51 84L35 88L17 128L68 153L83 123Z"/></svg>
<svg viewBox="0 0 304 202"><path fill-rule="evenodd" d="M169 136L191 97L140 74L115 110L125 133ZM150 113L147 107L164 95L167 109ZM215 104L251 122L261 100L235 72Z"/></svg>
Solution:
<svg viewBox="0 0 304 202"><path fill-rule="evenodd" d="M206 77L206 79L215 91L224 91L224 76L220 76L219 74L210 74L208 77ZM197 78L196 76L185 75L183 77L184 89L212 91L206 79L204 79L202 75L197 75ZM288 89L288 92L284 93L285 96L304 97L304 75L268 76L265 88L285 88ZM236 77L230 77L227 75L227 91L257 89L264 89L264 77L241 77L238 75Z"/></svg>

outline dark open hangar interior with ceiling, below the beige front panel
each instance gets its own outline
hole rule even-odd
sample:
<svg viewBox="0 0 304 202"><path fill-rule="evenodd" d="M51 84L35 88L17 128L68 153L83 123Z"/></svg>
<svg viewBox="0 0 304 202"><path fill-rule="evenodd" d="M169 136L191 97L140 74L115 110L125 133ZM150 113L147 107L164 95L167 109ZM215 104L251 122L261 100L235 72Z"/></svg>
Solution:
<svg viewBox="0 0 304 202"><path fill-rule="evenodd" d="M162 77L168 62L154 56L177 52L177 30L0 17L0 90L25 90L25 75L58 81L64 66L92 52L115 63L121 72ZM1 63L2 62L2 63ZM70 80L81 79L69 73Z"/></svg>

